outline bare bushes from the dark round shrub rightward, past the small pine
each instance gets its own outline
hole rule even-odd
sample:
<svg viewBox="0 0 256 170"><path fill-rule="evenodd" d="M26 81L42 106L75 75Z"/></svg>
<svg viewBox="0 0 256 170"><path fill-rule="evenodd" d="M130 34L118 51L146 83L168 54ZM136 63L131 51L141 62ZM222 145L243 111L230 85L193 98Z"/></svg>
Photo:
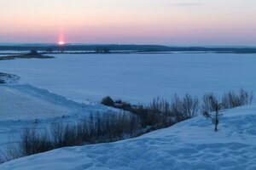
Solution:
<svg viewBox="0 0 256 170"><path fill-rule="evenodd" d="M218 100L218 101L215 101ZM204 94L201 99L185 94L179 98L174 94L171 101L156 98L149 106L131 105L122 100L114 101L109 96L102 99L102 105L130 111L140 117L142 126L150 126L153 129L170 127L177 122L182 122L197 115L216 111L215 102L218 103L218 110L230 109L241 105L250 105L253 100L253 92L240 89L239 92L230 91L224 93L221 99L214 94ZM213 102L213 103L212 103Z"/></svg>

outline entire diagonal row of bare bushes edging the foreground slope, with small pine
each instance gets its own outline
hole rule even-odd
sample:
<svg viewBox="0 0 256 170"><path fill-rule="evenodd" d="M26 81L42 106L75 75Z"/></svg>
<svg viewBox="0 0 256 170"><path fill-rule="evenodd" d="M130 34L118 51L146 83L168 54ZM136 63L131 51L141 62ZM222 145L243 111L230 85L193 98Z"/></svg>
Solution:
<svg viewBox="0 0 256 170"><path fill-rule="evenodd" d="M136 137L149 131L170 127L200 114L207 117L212 111L249 105L253 93L241 89L239 93L229 92L223 95L221 102L213 94L205 94L200 106L199 99L189 94L179 98L176 94L171 101L156 98L148 106L131 105L122 100L113 101L110 97L102 99L102 104L124 110L123 112L91 113L76 123L55 123L49 130L38 127L26 128L20 142L10 144L4 160L29 156L65 146L112 142ZM218 108L217 108L218 107ZM218 120L215 120L217 124ZM212 122L214 121L212 118ZM218 124L217 124L218 125ZM216 125L216 128L217 128Z"/></svg>

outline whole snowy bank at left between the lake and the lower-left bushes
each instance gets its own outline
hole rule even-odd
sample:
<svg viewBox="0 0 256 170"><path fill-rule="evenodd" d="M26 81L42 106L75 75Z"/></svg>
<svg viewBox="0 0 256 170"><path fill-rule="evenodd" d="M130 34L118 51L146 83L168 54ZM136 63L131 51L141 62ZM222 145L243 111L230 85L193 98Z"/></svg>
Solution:
<svg viewBox="0 0 256 170"><path fill-rule="evenodd" d="M40 123L76 122L91 112L107 111L96 104L80 104L30 85L0 85L0 157L6 144L15 142L26 127Z"/></svg>

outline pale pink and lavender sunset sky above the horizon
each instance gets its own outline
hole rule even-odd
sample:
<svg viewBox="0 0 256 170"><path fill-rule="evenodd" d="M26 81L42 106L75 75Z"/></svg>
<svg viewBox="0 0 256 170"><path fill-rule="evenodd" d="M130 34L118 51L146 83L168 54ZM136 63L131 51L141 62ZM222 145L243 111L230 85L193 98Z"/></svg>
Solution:
<svg viewBox="0 0 256 170"><path fill-rule="evenodd" d="M1 0L0 42L256 45L255 0Z"/></svg>

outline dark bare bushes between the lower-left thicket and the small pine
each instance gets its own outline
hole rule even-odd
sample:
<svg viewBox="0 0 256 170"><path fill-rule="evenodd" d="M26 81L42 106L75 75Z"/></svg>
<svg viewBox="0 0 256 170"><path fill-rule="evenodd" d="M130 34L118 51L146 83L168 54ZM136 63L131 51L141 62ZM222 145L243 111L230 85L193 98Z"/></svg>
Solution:
<svg viewBox="0 0 256 170"><path fill-rule="evenodd" d="M140 118L143 127L150 126L153 129L170 127L177 122L197 116L199 111L199 100L190 94L185 94L183 98L175 94L170 102L156 98L149 106L131 105L122 100L113 101L109 96L102 99L102 104L130 111Z"/></svg>

